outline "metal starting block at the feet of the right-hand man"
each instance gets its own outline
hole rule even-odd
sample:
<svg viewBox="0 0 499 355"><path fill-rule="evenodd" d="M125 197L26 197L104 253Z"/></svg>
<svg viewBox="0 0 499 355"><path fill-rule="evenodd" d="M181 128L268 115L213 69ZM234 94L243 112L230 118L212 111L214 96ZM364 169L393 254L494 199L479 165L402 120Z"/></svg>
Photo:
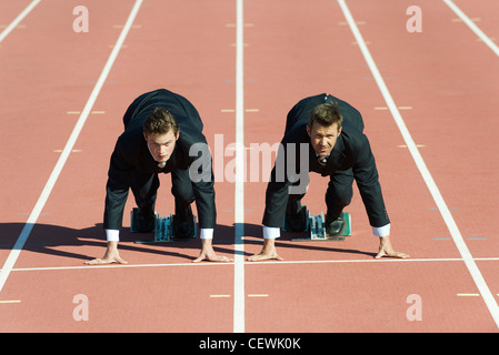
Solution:
<svg viewBox="0 0 499 355"><path fill-rule="evenodd" d="M309 232L309 237L291 239L291 241L345 241L346 236L351 235L351 217L350 213L343 212L345 225L338 235L327 235L326 234L326 219L323 212L321 214L310 215L310 211L306 206L302 206L301 213L307 213L307 224L303 232ZM305 210L305 211L303 211ZM282 230L288 232L286 229L286 217L282 225Z"/></svg>

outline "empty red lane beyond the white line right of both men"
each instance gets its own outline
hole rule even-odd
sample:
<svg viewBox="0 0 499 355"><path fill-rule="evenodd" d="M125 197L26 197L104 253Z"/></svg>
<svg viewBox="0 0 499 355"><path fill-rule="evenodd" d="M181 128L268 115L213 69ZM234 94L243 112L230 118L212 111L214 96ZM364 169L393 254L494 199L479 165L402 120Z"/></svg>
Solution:
<svg viewBox="0 0 499 355"><path fill-rule="evenodd" d="M498 3L455 3L487 36L497 36ZM415 141L422 145L421 155L467 248L475 258L497 258L499 189L495 181L499 164L495 152L499 124L495 105L499 99L499 58L443 2L420 3L421 33L396 31L408 19L398 14L410 4L416 3L398 2L379 13L368 1L353 1L351 11L356 18L366 19L362 32L372 43L372 55L381 72L400 79L388 85L396 102L410 101L407 104L412 110L403 113L406 123ZM391 36L387 36L387 27L392 29ZM436 242L455 244L451 239L426 237L425 242L438 248ZM498 261L476 263L497 303ZM477 294L478 290L472 286L462 293ZM480 302L483 304L481 297Z"/></svg>

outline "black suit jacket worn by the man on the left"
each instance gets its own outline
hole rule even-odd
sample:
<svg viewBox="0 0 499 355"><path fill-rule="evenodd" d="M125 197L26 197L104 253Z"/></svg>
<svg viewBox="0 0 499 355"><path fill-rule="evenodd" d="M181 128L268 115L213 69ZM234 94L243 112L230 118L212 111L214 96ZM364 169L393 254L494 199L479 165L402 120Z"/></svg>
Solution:
<svg viewBox="0 0 499 355"><path fill-rule="evenodd" d="M143 138L143 122L154 108L168 109L180 128L176 148L164 168L158 168ZM112 152L108 182L106 185L104 229L119 230L122 226L123 209L133 176L138 174L170 173L173 170L186 170L198 159L199 166L207 166L208 178L192 182L199 225L212 229L216 224L216 206L211 154L202 134L202 121L196 108L183 97L171 91L159 89L137 98L123 115L124 132L118 138ZM201 143L203 150L196 150L197 155L189 155L189 150Z"/></svg>

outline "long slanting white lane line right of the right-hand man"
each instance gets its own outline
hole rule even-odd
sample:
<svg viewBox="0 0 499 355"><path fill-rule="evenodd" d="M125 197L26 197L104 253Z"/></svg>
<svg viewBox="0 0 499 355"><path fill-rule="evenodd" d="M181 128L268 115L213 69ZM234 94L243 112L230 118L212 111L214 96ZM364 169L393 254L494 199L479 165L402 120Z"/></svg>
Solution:
<svg viewBox="0 0 499 355"><path fill-rule="evenodd" d="M409 152L411 153L412 159L415 160L416 165L418 166L419 172L421 173L422 179L425 180L425 183L428 186L428 190L431 193L431 196L437 203L440 214L442 215L443 221L446 222L447 227L449 229L450 235L452 236L452 240L456 243L456 246L458 247L459 253L461 254L465 264L471 274L471 277L473 278L478 290L480 291L480 294L483 296L483 300L487 304L487 307L489 308L490 314L492 315L492 318L496 322L496 325L499 327L499 306L492 293L490 292L483 276L481 275L480 270L475 263L475 260L471 256L471 253L468 246L466 245L465 240L462 239L461 232L459 231L456 221L453 220L452 214L449 211L449 207L443 201L443 197L440 194L440 191L437 187L437 184L435 183L433 178L430 174L430 171L426 166L425 161L421 154L419 153L418 148L416 146L416 143L412 140L409 130L407 129L406 123L403 122L403 119L399 110L397 109L393 99L391 98L390 92L387 85L385 84L383 79L381 78L378 67L376 65L375 60L372 59L371 53L369 52L366 43L363 42L363 38L360 34L360 31L353 20L353 17L350 13L350 10L348 9L345 0L338 0L338 3L341 8L341 11L343 11L345 18L347 19L347 22L350 26L350 29L357 42L359 42L359 48L363 54L363 58L366 59L366 62L369 65L369 69L371 70L372 77L375 78L381 91L381 94L383 95L383 99L387 102L387 105L400 130L400 133L402 134L403 140L406 141Z"/></svg>

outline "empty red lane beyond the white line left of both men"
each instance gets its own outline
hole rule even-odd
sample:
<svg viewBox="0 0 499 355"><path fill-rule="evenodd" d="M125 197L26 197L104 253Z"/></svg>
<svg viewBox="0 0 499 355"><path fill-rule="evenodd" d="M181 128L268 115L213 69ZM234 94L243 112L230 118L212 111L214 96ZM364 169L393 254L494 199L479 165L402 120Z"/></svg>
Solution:
<svg viewBox="0 0 499 355"><path fill-rule="evenodd" d="M117 40L117 30L104 21L123 21L132 2L116 7L118 2L109 1L109 8L89 3L96 9L89 33L73 31L74 3L38 4L21 22L22 29L2 42L0 114L4 129L0 144L4 153L0 163L8 166L0 173L2 265L92 91L110 54L109 45ZM76 149L77 155L80 150ZM72 204L66 203L68 214ZM41 211L41 216L48 213Z"/></svg>

